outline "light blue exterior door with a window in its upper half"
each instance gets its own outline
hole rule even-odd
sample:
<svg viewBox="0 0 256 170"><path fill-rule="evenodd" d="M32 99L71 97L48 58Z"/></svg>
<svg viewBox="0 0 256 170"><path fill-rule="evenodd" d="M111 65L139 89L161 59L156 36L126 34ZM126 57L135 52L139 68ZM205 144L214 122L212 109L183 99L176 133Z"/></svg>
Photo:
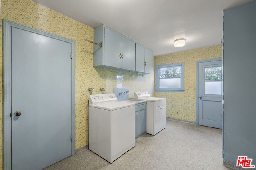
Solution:
<svg viewBox="0 0 256 170"><path fill-rule="evenodd" d="M222 129L222 60L198 66L198 125Z"/></svg>

